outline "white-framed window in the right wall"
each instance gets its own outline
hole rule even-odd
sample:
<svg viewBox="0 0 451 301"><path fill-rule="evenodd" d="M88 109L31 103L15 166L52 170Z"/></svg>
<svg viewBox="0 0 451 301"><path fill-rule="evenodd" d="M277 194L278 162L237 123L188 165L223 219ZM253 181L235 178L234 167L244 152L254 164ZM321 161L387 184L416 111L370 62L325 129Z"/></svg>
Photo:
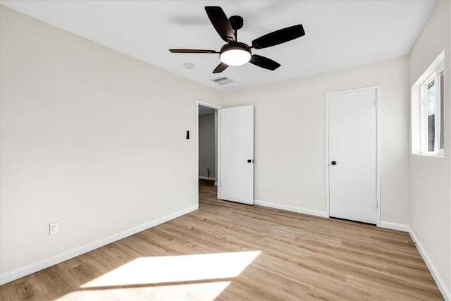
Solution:
<svg viewBox="0 0 451 301"><path fill-rule="evenodd" d="M443 64L435 69L420 87L421 153L443 156Z"/></svg>

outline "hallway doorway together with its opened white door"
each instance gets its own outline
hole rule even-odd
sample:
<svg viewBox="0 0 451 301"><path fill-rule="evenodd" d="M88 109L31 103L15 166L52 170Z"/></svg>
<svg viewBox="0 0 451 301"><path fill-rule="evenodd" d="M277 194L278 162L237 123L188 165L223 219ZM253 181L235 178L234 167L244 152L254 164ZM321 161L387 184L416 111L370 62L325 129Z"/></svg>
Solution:
<svg viewBox="0 0 451 301"><path fill-rule="evenodd" d="M254 203L254 106L197 102L199 180L216 183L217 199Z"/></svg>

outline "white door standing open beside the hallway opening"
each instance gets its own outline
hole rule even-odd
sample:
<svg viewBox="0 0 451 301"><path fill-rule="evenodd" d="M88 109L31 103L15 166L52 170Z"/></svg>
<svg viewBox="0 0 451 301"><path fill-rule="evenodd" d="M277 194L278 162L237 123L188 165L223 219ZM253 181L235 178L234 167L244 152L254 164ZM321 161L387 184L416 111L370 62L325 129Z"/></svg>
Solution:
<svg viewBox="0 0 451 301"><path fill-rule="evenodd" d="M254 106L219 110L221 199L254 204Z"/></svg>

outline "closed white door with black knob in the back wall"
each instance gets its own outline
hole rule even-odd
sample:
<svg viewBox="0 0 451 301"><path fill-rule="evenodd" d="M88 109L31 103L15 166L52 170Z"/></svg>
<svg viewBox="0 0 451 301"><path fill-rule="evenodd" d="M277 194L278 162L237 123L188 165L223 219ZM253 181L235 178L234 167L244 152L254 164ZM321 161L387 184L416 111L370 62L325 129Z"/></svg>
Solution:
<svg viewBox="0 0 451 301"><path fill-rule="evenodd" d="M377 222L376 89L328 95L329 215Z"/></svg>

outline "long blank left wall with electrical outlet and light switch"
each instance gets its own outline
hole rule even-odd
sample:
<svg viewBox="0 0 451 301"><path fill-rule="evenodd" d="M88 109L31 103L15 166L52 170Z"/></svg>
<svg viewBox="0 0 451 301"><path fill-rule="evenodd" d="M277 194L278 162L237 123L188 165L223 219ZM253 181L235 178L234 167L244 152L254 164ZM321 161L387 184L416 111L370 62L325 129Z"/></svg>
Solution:
<svg viewBox="0 0 451 301"><path fill-rule="evenodd" d="M195 209L197 139L186 130L196 133L197 100L221 94L0 11L2 281Z"/></svg>

